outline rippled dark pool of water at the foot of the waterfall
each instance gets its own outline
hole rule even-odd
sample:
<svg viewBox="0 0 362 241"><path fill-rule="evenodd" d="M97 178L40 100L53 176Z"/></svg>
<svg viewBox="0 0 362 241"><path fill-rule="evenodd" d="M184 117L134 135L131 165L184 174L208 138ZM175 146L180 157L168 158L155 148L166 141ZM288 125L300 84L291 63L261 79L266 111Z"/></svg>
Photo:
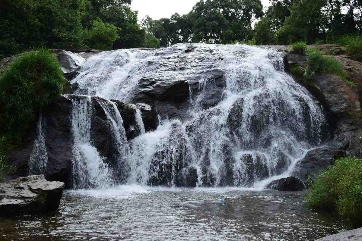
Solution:
<svg viewBox="0 0 362 241"><path fill-rule="evenodd" d="M0 219L0 240L308 241L344 228L336 216L304 207L303 194L141 186L68 190L58 212Z"/></svg>

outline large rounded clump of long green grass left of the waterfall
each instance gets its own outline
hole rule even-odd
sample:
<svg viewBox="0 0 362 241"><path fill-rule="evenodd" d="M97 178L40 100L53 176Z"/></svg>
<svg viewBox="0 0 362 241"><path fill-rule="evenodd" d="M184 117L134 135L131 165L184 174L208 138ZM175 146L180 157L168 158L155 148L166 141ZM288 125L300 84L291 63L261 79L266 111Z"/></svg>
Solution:
<svg viewBox="0 0 362 241"><path fill-rule="evenodd" d="M13 60L0 76L1 131L21 137L35 114L58 99L63 86L63 72L49 51L41 48Z"/></svg>

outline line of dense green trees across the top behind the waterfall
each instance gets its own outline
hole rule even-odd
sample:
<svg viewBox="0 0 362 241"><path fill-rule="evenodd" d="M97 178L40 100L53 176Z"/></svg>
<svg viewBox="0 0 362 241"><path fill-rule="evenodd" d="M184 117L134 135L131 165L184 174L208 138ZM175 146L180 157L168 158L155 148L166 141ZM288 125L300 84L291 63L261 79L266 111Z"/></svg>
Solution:
<svg viewBox="0 0 362 241"><path fill-rule="evenodd" d="M138 22L131 0L0 0L0 57L32 47L167 47L181 42L334 43L362 32L362 0L201 0ZM254 23L257 22L255 25Z"/></svg>

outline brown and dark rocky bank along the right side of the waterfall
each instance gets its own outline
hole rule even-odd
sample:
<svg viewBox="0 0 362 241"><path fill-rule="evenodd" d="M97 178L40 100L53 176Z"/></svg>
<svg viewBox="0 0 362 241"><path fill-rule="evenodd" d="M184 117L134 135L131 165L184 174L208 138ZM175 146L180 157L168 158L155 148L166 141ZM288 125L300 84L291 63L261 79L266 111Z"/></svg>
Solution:
<svg viewBox="0 0 362 241"><path fill-rule="evenodd" d="M281 52L287 46L268 46ZM306 180L325 169L340 156L362 158L362 63L350 60L342 47L331 44L307 46L332 55L344 67L346 77L352 85L332 74L317 75L314 81L300 82L324 106L329 124L329 140L325 147L309 151L292 175ZM287 53L288 63L304 65L306 58Z"/></svg>

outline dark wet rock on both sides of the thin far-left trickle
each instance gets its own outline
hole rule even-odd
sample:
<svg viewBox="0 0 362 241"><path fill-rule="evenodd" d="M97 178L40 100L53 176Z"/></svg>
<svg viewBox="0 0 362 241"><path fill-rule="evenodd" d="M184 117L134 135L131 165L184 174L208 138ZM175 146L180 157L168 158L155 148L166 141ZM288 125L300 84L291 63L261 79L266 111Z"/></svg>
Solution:
<svg viewBox="0 0 362 241"><path fill-rule="evenodd" d="M61 95L58 102L44 109L42 113L44 138L48 155L48 165L44 173L49 181L62 181L69 183L72 167L72 99L70 95ZM35 120L25 137L21 149L11 150L7 153L8 163L16 166L12 178L29 175L29 158L37 137ZM68 185L67 185L68 186Z"/></svg>

